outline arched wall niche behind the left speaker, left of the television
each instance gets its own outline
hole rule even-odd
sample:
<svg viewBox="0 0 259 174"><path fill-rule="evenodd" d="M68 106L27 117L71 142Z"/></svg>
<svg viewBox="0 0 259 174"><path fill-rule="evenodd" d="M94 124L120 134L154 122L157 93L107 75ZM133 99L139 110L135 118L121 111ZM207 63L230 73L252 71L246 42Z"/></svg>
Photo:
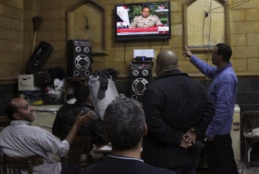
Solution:
<svg viewBox="0 0 259 174"><path fill-rule="evenodd" d="M96 0L78 0L67 9L67 40L91 40L92 55L107 55L107 14Z"/></svg>

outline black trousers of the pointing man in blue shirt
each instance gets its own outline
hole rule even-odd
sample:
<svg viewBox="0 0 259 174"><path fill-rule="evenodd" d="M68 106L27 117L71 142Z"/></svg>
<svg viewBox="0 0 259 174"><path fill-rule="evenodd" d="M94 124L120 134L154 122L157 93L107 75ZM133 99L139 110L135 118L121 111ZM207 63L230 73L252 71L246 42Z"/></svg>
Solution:
<svg viewBox="0 0 259 174"><path fill-rule="evenodd" d="M210 174L238 174L230 134L214 136L206 148Z"/></svg>

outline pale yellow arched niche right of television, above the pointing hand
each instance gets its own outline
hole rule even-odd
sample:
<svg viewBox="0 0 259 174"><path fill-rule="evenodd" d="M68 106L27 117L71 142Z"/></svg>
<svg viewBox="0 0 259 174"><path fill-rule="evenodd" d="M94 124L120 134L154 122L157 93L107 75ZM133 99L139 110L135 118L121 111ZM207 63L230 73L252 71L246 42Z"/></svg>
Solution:
<svg viewBox="0 0 259 174"><path fill-rule="evenodd" d="M182 5L183 46L208 53L217 43L229 43L227 0L185 0Z"/></svg>

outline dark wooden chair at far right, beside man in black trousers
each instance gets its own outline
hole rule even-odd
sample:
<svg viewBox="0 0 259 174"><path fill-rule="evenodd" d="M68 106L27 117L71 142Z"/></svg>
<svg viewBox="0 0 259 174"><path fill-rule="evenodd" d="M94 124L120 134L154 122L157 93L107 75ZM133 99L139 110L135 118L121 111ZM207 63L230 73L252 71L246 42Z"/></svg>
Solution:
<svg viewBox="0 0 259 174"><path fill-rule="evenodd" d="M244 119L244 137L246 143L246 156L247 158L247 168L250 167L250 153L252 151L255 142L259 141L259 136L252 136L252 130L259 127L259 110L256 111L244 111L242 113L242 118Z"/></svg>

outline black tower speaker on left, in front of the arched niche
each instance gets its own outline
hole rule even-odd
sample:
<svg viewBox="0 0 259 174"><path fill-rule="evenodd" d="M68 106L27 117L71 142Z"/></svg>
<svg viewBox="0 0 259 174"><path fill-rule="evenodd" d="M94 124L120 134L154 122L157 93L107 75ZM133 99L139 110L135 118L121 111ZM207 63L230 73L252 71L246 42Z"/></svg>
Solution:
<svg viewBox="0 0 259 174"><path fill-rule="evenodd" d="M88 77L92 74L90 40L71 39L67 43L67 76Z"/></svg>

